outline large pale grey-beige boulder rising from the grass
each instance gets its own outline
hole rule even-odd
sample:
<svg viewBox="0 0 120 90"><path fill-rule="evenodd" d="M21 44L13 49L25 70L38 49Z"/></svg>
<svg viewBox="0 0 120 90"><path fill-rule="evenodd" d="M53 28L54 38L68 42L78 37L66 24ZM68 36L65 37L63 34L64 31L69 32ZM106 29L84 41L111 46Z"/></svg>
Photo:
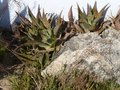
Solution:
<svg viewBox="0 0 120 90"><path fill-rule="evenodd" d="M101 35L85 33L67 41L58 57L42 75L58 75L64 70L87 69L100 80L116 78L120 84L120 32L105 30Z"/></svg>

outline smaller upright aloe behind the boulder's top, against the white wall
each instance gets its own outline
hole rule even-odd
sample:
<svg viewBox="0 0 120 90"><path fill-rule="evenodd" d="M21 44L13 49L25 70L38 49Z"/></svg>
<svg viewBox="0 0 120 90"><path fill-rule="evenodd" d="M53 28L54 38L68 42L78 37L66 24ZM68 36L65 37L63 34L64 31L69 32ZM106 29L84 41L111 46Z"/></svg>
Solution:
<svg viewBox="0 0 120 90"><path fill-rule="evenodd" d="M91 7L87 5L87 12L78 7L78 21L75 25L80 33L95 32L102 29L102 24L109 7L104 6L100 11L97 10L97 2Z"/></svg>

